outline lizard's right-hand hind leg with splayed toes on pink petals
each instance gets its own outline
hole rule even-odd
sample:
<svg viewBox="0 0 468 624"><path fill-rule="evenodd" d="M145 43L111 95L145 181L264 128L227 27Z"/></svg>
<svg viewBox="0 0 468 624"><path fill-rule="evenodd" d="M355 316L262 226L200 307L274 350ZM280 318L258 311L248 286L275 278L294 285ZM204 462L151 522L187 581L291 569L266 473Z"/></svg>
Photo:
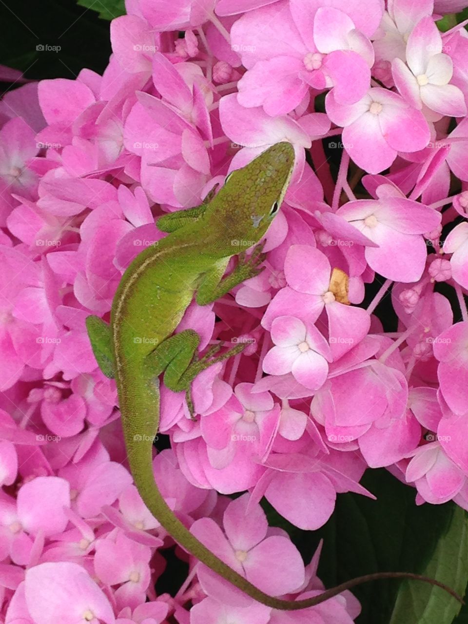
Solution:
<svg viewBox="0 0 468 624"><path fill-rule="evenodd" d="M223 344L215 344L198 359L200 336L193 329L185 329L179 334L166 338L145 360L148 374L152 377L164 372L164 384L173 392L185 391L190 416L194 417L191 386L195 377L217 362L232 358L243 351L245 344L236 344L225 353L213 357Z"/></svg>

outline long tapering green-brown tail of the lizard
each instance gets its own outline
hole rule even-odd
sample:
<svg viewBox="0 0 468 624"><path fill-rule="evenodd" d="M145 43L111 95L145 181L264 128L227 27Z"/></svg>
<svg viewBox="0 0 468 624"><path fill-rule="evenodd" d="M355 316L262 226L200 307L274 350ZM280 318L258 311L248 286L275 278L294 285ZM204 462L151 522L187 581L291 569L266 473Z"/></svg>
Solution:
<svg viewBox="0 0 468 624"><path fill-rule="evenodd" d="M140 381L140 383L139 383ZM117 379L119 386L119 380ZM329 598L333 598L345 590L349 590L356 585L379 578L412 578L424 581L441 587L451 596L463 603L463 600L454 590L443 583L432 578L423 577L418 574L408 572L379 572L368 574L363 577L352 578L346 583L341 583L325 592L307 598L306 600L282 600L275 598L255 587L245 577L233 570L230 566L218 558L200 540L198 540L185 525L175 516L162 497L157 484L155 483L152 467L152 442L158 428L159 421L159 391L158 384L151 384L149 388L144 379L132 379L132 389L120 393L120 411L122 412L122 424L124 427L125 445L130 464L130 470L134 477L135 485L154 517L160 522L162 527L173 539L182 546L188 553L196 557L200 562L207 565L214 572L217 572L228 582L235 585L242 592L256 600L257 602L278 610L298 610L314 607ZM123 400L122 400L123 399Z"/></svg>

